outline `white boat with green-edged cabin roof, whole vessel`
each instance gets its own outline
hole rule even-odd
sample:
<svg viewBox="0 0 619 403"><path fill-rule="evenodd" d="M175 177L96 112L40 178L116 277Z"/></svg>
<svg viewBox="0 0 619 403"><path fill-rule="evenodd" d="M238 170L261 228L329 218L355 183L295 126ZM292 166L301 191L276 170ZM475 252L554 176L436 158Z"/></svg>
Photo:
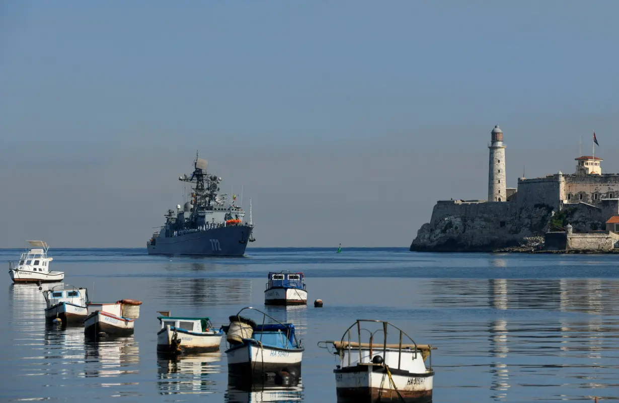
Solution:
<svg viewBox="0 0 619 403"><path fill-rule="evenodd" d="M214 329L210 318L184 316L157 316L161 324L157 332L157 350L162 352L214 352L219 351L222 329Z"/></svg>

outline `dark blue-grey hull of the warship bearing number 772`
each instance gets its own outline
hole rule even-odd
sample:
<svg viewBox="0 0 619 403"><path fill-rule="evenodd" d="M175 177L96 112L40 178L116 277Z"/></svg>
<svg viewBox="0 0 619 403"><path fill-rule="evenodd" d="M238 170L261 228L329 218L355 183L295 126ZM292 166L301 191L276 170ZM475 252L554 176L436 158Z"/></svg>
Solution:
<svg viewBox="0 0 619 403"><path fill-rule="evenodd" d="M165 238L147 246L149 254L243 256L253 227L233 225Z"/></svg>

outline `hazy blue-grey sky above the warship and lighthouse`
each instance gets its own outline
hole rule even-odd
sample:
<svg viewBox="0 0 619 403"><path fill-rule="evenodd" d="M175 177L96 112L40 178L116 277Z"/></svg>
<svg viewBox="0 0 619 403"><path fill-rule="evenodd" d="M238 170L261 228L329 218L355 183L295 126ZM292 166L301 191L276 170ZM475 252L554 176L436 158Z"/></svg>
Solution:
<svg viewBox="0 0 619 403"><path fill-rule="evenodd" d="M0 248L145 247L196 150L255 247L409 246L436 201L619 172L619 2L0 2ZM240 200L239 200L240 201Z"/></svg>

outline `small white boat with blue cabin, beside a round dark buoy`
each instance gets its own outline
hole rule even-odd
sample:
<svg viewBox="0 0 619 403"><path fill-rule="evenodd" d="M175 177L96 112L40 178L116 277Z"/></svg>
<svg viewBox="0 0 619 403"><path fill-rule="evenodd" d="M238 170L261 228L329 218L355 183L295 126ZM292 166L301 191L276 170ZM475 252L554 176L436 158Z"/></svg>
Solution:
<svg viewBox="0 0 619 403"><path fill-rule="evenodd" d="M307 305L303 272L270 272L264 290L264 305Z"/></svg>

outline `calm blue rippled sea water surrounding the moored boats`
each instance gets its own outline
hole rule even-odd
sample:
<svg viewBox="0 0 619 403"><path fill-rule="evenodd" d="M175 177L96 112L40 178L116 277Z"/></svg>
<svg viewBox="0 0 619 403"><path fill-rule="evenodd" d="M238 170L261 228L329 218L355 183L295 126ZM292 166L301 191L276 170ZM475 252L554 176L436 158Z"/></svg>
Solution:
<svg viewBox="0 0 619 403"><path fill-rule="evenodd" d="M21 251L0 249L0 261ZM619 268L612 255L431 254L406 249L248 249L245 258L166 258L145 249L51 249L64 284L95 301L144 301L133 337L89 342L45 326L36 285L5 272L2 401L335 402L336 359L316 347L357 318L438 346L434 402L619 400ZM7 267L7 266L5 266ZM306 275L324 308L265 308L267 272ZM45 287L45 285L44 285ZM158 310L212 318L245 306L297 326L302 385L237 391L226 357L158 357ZM222 347L225 344L222 343ZM222 349L223 351L223 349Z"/></svg>

